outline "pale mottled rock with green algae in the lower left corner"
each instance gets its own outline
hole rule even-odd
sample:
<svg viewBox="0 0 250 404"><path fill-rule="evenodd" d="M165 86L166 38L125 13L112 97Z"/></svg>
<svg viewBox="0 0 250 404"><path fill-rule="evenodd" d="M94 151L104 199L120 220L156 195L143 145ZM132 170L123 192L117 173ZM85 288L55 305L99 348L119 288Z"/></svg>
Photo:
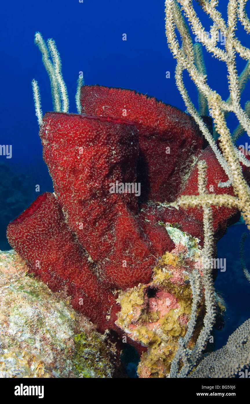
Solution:
<svg viewBox="0 0 250 404"><path fill-rule="evenodd" d="M107 333L52 292L13 250L0 251L0 377L115 377Z"/></svg>

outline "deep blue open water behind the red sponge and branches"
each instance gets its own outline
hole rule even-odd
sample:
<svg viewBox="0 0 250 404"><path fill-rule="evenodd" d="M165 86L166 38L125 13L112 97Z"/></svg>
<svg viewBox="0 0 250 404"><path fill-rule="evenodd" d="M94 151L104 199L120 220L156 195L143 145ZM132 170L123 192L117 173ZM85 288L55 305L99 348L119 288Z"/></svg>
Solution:
<svg viewBox="0 0 250 404"><path fill-rule="evenodd" d="M227 1L220 0L225 16ZM210 22L199 11L202 23L209 31ZM249 6L247 8L248 15ZM165 37L164 2L162 0L42 0L1 5L0 78L0 144L12 144L12 158L0 160L19 173L29 174L32 183L40 184L40 192L52 191L52 181L42 160L42 147L33 105L31 80L35 78L41 90L43 113L52 110L50 82L34 45L36 31L43 38L54 38L62 59L62 72L68 87L70 112L76 112L74 101L76 80L83 71L85 84L133 88L186 109L174 80L176 62ZM127 40L122 40L122 34ZM238 37L249 46L249 39L239 26ZM223 62L205 54L209 84L223 97L228 97L227 71ZM246 62L238 60L241 72ZM165 72L170 78L165 78ZM185 76L186 77L186 76ZM197 105L196 89L188 79L187 86ZM242 105L248 100L248 85ZM234 117L229 119L235 128ZM244 142L247 141L246 136ZM243 142L243 144L244 144ZM241 142L238 142L241 144ZM217 277L216 286L227 301L226 324L217 332L217 347L250 315L250 285L239 267L238 242L245 226L229 229L218 244L218 256L227 258L227 270ZM248 267L249 241L246 242Z"/></svg>

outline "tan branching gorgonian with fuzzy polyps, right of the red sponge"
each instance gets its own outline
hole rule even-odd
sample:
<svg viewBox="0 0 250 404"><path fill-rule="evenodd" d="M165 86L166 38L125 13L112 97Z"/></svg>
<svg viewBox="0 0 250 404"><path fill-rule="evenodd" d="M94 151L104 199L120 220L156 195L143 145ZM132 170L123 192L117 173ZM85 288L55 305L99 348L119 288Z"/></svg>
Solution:
<svg viewBox="0 0 250 404"><path fill-rule="evenodd" d="M209 265L214 248L212 206L215 206L216 208L219 208L220 206L238 208L241 211L245 223L248 225L248 229L250 229L250 188L243 177L240 162L248 167L250 164L234 144L234 139L232 138L226 123L228 113L233 112L239 121L239 126L236 133L233 134L234 138L242 131L246 131L246 133L248 133L250 136L248 103L245 106L245 110L242 109L240 103L242 91L250 76L250 50L242 46L236 37L238 14L239 19L244 21L243 25L248 31L249 21L244 12L246 2L244 0L228 0L227 22L224 21L221 13L219 13L217 10L217 0L199 0L198 2L205 13L207 13L207 15L209 15L209 17L213 20L213 25L211 26L212 38L208 38L206 36L205 29L202 26L200 19L196 15L192 1L190 0L165 1L166 36L169 48L174 57L177 59L176 84L182 98L184 99L187 111L192 115L196 123L199 125L200 130L202 130L202 133L213 149L217 160L229 178L227 183L219 184L219 186L231 184L235 196L226 194L208 194L206 174L207 164L205 160L202 160L197 164L199 195L181 196L176 202L171 204L162 204L165 207L174 206L175 208L178 208L179 206L182 206L182 208L188 208L188 206L200 206L203 209L204 244L202 252L204 255L204 269L202 271L203 276L201 278L201 282L203 284L206 307L204 326L192 350L187 349L183 338L180 339L178 354L176 358L174 358L172 363L173 368L171 367L170 370L171 377L185 377L190 370L192 371L192 368L200 358L209 336L209 332L211 331L215 321L215 292L211 276L211 265ZM199 65L200 61L202 61L201 55L199 55L196 51L199 48L197 45L191 45L191 37L178 3L181 4L182 11L188 18L191 30L193 34L196 35L199 42L201 42L201 44L204 45L207 51L212 53L213 56L226 63L230 93L227 101L223 101L220 95L217 94L216 91L212 90L212 88L210 88L207 84L207 74L205 70L202 69L202 66ZM180 34L182 40L181 44L179 44L179 41L177 40L175 32L176 29L178 29ZM219 33L219 30L226 35L224 50L219 48L218 44L216 43L216 34ZM240 77L238 76L236 69L236 53L239 53L241 57L248 61ZM183 70L185 69L187 70L190 78L196 84L198 92L203 94L204 100L206 100L208 103L215 125L215 130L219 135L219 147L221 151L217 147L215 140L213 139L211 133L203 122L200 114L198 114L188 95L182 77ZM200 108L200 111L202 111L202 108ZM183 366L182 369L178 371L180 359L182 359Z"/></svg>

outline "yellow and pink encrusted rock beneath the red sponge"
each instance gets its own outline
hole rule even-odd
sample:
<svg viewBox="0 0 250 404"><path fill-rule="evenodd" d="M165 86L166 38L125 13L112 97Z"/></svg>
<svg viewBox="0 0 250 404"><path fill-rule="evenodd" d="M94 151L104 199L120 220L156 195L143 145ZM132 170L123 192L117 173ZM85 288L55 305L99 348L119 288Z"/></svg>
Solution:
<svg viewBox="0 0 250 404"><path fill-rule="evenodd" d="M189 275L200 266L199 240L174 227L166 227L175 248L166 252L153 269L153 280L121 291L121 311L116 324L134 341L147 346L138 366L139 377L167 377L178 349L178 339L186 334L192 308ZM201 327L203 296L200 297L196 332ZM204 314L204 313L203 313Z"/></svg>

